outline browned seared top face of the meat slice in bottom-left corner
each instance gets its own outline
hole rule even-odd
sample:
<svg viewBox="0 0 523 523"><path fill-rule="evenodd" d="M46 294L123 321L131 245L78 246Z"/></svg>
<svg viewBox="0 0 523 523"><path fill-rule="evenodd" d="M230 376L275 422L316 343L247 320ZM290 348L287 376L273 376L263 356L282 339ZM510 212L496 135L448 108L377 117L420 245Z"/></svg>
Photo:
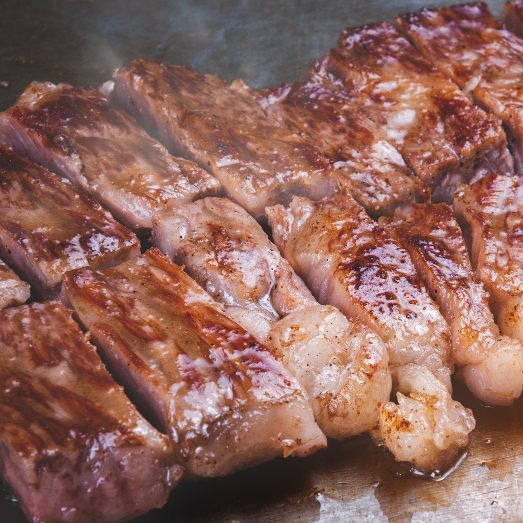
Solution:
<svg viewBox="0 0 523 523"><path fill-rule="evenodd" d="M60 325L60 332L56 327ZM47 369L66 361L71 377L93 390L116 387L71 313L58 301L33 303L0 313L0 424L17 451L42 452L49 440L58 446L85 445L101 434L118 434L142 445L132 431L100 404L51 382ZM51 329L51 331L49 331ZM69 388L68 388L69 387ZM126 400L124 400L126 401ZM56 416L56 405L64 418Z"/></svg>

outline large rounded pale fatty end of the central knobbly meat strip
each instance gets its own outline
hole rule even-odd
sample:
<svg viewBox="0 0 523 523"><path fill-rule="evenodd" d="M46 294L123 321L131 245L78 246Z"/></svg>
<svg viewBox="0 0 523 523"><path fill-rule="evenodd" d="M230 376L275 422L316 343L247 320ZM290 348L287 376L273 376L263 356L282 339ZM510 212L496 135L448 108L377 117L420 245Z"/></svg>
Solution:
<svg viewBox="0 0 523 523"><path fill-rule="evenodd" d="M376 427L392 379L386 347L370 328L331 305L314 305L276 322L269 336L326 436L343 439Z"/></svg>

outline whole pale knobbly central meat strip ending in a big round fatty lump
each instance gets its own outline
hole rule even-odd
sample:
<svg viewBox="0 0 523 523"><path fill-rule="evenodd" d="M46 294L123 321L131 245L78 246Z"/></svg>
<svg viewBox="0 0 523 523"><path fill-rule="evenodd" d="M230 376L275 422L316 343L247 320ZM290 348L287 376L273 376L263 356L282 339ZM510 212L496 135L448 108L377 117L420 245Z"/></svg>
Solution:
<svg viewBox="0 0 523 523"><path fill-rule="evenodd" d="M376 425L391 390L381 340L334 307L318 305L254 218L230 200L205 198L153 220L153 245L276 349L309 394L326 436L345 438Z"/></svg>

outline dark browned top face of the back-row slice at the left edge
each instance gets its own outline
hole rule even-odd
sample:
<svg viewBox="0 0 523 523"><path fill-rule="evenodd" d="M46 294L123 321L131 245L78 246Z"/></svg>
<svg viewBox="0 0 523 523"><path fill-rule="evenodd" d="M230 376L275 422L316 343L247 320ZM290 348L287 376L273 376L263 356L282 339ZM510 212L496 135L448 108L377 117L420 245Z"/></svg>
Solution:
<svg viewBox="0 0 523 523"><path fill-rule="evenodd" d="M86 260L94 260L111 252L100 242L100 252L89 245L98 235L118 242L119 249L138 245L93 198L5 147L0 147L0 202L0 227L33 259L65 264L75 239ZM46 230L37 231L40 227Z"/></svg>

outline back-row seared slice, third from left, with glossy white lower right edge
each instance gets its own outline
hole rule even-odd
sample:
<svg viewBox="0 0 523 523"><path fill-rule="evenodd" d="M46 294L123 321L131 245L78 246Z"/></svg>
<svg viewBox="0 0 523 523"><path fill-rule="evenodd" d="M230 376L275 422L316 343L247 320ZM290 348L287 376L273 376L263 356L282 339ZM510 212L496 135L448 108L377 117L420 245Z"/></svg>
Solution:
<svg viewBox="0 0 523 523"><path fill-rule="evenodd" d="M339 186L372 217L392 215L401 202L430 197L430 189L406 167L386 132L318 64L300 82L253 93L269 116L331 158Z"/></svg>

